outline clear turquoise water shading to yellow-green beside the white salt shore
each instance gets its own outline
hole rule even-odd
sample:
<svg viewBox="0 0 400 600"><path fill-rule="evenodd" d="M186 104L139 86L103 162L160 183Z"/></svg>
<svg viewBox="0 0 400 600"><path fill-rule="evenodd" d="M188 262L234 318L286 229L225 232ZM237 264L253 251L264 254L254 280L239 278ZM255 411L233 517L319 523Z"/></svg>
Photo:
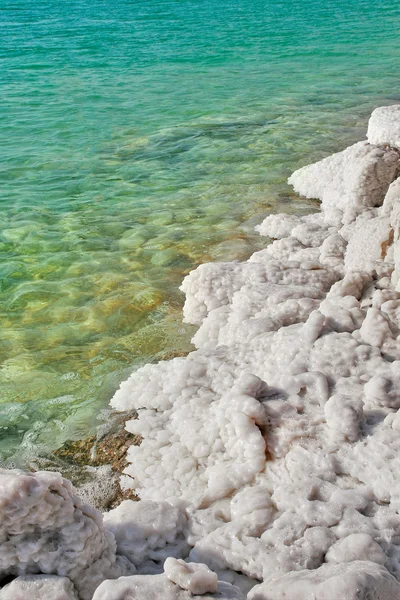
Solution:
<svg viewBox="0 0 400 600"><path fill-rule="evenodd" d="M1 0L0 456L186 352L178 285L400 102L393 0Z"/></svg>

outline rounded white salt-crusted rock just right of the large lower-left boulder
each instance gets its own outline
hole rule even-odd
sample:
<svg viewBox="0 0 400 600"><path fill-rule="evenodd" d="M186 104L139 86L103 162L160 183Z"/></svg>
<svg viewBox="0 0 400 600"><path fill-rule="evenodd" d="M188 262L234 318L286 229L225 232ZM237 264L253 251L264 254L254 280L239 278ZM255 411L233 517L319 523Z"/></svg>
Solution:
<svg viewBox="0 0 400 600"><path fill-rule="evenodd" d="M168 502L124 500L104 515L104 525L117 542L118 554L126 556L139 572L162 571L169 556L187 556L184 510ZM152 561L151 563L149 561Z"/></svg>

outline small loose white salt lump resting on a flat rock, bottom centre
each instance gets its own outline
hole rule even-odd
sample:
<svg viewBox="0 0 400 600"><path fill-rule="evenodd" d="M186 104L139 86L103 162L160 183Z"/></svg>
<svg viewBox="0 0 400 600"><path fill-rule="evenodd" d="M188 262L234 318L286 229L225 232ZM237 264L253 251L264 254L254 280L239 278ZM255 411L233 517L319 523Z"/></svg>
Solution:
<svg viewBox="0 0 400 600"><path fill-rule="evenodd" d="M217 574L202 563L187 563L170 557L165 561L164 572L172 583L193 595L218 592Z"/></svg>

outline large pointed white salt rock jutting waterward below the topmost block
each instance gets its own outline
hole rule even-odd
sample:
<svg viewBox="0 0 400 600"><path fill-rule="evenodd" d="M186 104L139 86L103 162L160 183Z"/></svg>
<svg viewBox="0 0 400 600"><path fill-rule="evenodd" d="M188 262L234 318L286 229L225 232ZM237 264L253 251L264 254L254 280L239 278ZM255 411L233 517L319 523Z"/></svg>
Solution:
<svg viewBox="0 0 400 600"><path fill-rule="evenodd" d="M299 169L289 183L302 196L319 198L325 221L339 225L363 208L380 206L399 166L396 150L358 142Z"/></svg>

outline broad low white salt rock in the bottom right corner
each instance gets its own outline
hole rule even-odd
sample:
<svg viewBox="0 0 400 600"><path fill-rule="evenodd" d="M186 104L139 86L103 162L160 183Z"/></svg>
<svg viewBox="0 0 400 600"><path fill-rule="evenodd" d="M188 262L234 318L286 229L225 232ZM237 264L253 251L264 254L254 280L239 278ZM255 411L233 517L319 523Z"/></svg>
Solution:
<svg viewBox="0 0 400 600"><path fill-rule="evenodd" d="M398 600L400 584L376 563L322 565L314 571L274 576L256 586L248 600Z"/></svg>

